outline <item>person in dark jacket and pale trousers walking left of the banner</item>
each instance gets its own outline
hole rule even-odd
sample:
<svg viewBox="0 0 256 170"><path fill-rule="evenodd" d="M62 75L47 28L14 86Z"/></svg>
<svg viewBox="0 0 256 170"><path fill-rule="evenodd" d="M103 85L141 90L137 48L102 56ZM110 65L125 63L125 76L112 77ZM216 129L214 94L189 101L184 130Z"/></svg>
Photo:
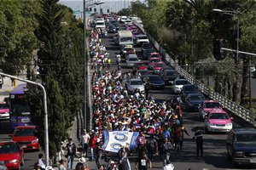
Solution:
<svg viewBox="0 0 256 170"><path fill-rule="evenodd" d="M76 144L73 143L73 139L68 139L68 144L65 147L67 150L67 170L72 170L74 156L78 153Z"/></svg>

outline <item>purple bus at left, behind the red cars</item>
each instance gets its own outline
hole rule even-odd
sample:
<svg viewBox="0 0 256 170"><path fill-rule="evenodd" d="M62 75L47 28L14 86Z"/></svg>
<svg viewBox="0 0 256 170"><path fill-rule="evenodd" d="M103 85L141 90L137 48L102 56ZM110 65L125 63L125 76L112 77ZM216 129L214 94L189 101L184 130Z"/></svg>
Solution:
<svg viewBox="0 0 256 170"><path fill-rule="evenodd" d="M26 83L20 84L9 94L9 122L12 129L18 126L34 125L25 91Z"/></svg>

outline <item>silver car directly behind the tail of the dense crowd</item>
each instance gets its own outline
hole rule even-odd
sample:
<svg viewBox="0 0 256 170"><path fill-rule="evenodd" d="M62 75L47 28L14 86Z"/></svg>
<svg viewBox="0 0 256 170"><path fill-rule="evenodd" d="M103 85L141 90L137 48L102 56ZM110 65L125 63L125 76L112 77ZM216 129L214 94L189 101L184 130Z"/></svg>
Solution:
<svg viewBox="0 0 256 170"><path fill-rule="evenodd" d="M144 83L140 78L130 79L128 82L126 82L126 88L129 94L134 94L136 89L142 94L145 92Z"/></svg>

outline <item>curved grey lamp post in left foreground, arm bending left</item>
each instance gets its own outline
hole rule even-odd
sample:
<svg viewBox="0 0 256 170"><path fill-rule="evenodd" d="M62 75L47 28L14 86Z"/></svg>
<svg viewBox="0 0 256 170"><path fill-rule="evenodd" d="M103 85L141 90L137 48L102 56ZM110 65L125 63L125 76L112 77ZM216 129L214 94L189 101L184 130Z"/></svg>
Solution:
<svg viewBox="0 0 256 170"><path fill-rule="evenodd" d="M30 84L34 84L39 86L40 88L42 88L43 93L44 93L44 150L45 150L45 158L46 158L46 167L49 166L49 134L48 134L48 112L47 112L47 96L46 96L46 91L45 88L42 84L38 83L38 82L32 82L30 80L26 80L20 77L14 77L11 76L9 74L5 74L3 72L0 72L0 75L2 75L3 77L10 77L16 80L20 80L21 82L27 82Z"/></svg>

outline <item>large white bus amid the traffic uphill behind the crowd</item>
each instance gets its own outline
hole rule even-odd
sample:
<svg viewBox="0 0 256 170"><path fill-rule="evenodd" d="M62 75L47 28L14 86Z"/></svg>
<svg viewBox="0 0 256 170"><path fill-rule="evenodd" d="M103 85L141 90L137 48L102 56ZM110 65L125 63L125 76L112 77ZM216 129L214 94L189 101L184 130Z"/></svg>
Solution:
<svg viewBox="0 0 256 170"><path fill-rule="evenodd" d="M129 30L118 31L118 43L122 45L133 45L132 33Z"/></svg>

